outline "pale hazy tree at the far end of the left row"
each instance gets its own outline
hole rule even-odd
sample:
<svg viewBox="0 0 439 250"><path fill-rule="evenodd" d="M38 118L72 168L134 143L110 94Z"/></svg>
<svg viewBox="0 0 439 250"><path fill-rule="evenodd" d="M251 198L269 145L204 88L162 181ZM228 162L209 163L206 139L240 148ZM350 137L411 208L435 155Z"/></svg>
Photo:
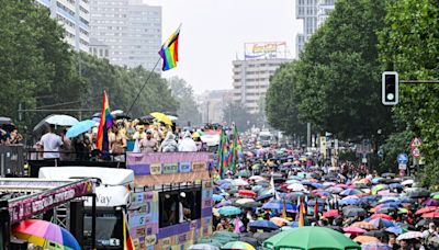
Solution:
<svg viewBox="0 0 439 250"><path fill-rule="evenodd" d="M195 102L192 87L183 79L173 77L169 79L172 96L179 103L177 115L179 116L179 124L187 126L188 124L200 124L200 112Z"/></svg>

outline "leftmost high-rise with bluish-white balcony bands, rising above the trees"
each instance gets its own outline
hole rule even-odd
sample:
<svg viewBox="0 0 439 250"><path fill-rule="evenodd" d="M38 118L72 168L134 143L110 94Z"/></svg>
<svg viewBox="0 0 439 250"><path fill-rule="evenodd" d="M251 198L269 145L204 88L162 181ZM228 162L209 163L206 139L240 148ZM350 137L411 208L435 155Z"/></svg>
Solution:
<svg viewBox="0 0 439 250"><path fill-rule="evenodd" d="M90 7L89 0L35 0L50 11L50 18L66 30L65 41L75 49L89 52Z"/></svg>

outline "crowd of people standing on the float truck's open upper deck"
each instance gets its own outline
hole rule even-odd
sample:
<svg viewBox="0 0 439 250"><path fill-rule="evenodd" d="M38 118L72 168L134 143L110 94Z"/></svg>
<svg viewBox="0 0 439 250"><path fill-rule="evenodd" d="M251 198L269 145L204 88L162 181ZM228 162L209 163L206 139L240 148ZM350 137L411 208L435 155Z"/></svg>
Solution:
<svg viewBox="0 0 439 250"><path fill-rule="evenodd" d="M97 124L98 125L98 124ZM34 146L38 159L59 160L100 160L100 150L95 147L98 127L79 136L68 138L69 127L48 125ZM108 130L109 155L113 160L123 161L127 151L134 152L175 152L203 151L206 145L201 141L203 128L182 130L173 125L158 121L140 122L126 118L114 122Z"/></svg>

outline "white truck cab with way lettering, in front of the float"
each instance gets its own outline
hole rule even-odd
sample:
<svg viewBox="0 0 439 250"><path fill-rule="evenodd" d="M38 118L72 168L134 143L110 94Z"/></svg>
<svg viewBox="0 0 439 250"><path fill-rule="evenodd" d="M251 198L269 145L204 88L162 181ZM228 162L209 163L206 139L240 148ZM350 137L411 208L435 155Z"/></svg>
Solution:
<svg viewBox="0 0 439 250"><path fill-rule="evenodd" d="M134 171L97 167L43 167L38 178L71 180L94 178L99 180L97 194L97 247L98 249L123 249L123 213L131 203ZM85 242L91 246L91 198L85 203Z"/></svg>

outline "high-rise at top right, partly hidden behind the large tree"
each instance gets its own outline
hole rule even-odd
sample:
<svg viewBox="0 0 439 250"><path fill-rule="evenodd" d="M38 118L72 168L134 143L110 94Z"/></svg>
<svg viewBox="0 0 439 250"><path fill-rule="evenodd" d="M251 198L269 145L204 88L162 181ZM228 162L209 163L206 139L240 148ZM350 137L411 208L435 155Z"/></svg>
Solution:
<svg viewBox="0 0 439 250"><path fill-rule="evenodd" d="M296 0L295 16L303 20L303 33L295 41L296 57L303 50L306 41L329 16L336 0Z"/></svg>

